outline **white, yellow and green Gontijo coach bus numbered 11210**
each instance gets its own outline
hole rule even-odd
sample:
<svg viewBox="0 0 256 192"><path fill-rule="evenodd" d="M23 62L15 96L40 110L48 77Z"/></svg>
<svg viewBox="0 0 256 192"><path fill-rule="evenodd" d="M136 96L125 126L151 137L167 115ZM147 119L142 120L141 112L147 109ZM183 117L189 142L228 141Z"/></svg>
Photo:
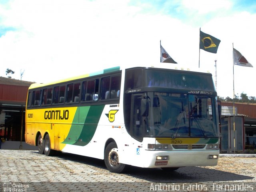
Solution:
<svg viewBox="0 0 256 192"><path fill-rule="evenodd" d="M117 173L127 164L170 171L215 166L216 98L212 74L154 67L32 84L25 139L39 154L104 159Z"/></svg>

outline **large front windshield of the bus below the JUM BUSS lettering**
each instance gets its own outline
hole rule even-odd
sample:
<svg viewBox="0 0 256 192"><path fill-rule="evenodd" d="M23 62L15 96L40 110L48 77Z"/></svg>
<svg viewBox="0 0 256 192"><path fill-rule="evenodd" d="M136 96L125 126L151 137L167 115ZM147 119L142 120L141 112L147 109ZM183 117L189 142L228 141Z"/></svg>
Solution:
<svg viewBox="0 0 256 192"><path fill-rule="evenodd" d="M148 92L146 136L218 137L213 96Z"/></svg>

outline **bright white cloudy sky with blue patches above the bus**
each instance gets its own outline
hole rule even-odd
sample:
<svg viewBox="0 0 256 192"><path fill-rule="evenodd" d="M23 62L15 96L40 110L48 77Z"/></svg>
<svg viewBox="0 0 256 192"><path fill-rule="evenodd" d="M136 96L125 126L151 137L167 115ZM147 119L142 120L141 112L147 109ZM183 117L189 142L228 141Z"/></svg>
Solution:
<svg viewBox="0 0 256 192"><path fill-rule="evenodd" d="M200 28L221 40L216 54L199 57ZM45 83L161 66L161 40L178 63L170 65L210 71L218 96L256 96L255 28L255 0L0 0L0 76L8 68ZM233 45L253 68L233 66Z"/></svg>

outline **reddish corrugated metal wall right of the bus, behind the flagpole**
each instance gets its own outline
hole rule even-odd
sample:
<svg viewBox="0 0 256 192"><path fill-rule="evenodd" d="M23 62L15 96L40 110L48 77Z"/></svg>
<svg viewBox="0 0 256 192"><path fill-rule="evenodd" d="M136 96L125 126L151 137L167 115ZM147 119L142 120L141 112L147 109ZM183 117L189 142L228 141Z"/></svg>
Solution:
<svg viewBox="0 0 256 192"><path fill-rule="evenodd" d="M232 106L233 103L221 102L221 106ZM235 103L237 113L256 118L256 104Z"/></svg>

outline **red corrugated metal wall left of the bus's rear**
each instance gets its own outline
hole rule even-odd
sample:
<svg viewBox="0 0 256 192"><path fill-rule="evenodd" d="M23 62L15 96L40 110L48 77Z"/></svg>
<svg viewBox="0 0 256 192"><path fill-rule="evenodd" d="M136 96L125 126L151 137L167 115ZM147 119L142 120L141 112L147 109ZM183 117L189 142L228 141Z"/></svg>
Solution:
<svg viewBox="0 0 256 192"><path fill-rule="evenodd" d="M0 100L26 102L28 86L0 84Z"/></svg>

